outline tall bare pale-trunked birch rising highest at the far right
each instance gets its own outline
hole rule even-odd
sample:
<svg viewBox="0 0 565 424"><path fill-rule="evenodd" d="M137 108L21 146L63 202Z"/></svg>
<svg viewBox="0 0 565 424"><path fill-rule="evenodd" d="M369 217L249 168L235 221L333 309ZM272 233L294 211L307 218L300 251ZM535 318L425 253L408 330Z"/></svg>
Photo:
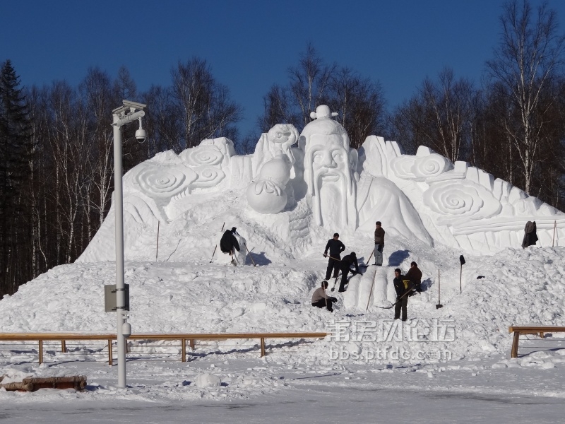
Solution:
<svg viewBox="0 0 565 424"><path fill-rule="evenodd" d="M533 11L527 0L506 3L500 23L501 41L487 71L502 88L509 113L501 117L501 127L518 153L523 189L530 193L541 134L557 98L551 87L563 68L565 38L547 4Z"/></svg>

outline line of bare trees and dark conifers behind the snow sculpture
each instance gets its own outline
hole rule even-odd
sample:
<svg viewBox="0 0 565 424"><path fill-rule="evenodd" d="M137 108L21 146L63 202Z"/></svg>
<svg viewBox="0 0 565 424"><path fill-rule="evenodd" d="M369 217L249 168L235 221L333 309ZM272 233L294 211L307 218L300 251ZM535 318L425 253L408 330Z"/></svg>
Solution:
<svg viewBox="0 0 565 424"><path fill-rule="evenodd" d="M242 107L206 60L179 61L167 87L138 93L125 67L116 78L96 67L76 86L23 87L10 60L0 70L0 296L47 269L74 261L109 210L112 126L122 99L148 105L148 139L124 127L124 172L169 149L226 136L251 153L261 132L291 123L299 131L326 104L358 148L376 134L406 153L425 145L452 161L506 179L565 209L565 39L554 11L528 1L504 5L501 39L480 85L446 67L402 105L387 110L379 81L326 63L308 44L287 82L263 98L256 133L242 136Z"/></svg>

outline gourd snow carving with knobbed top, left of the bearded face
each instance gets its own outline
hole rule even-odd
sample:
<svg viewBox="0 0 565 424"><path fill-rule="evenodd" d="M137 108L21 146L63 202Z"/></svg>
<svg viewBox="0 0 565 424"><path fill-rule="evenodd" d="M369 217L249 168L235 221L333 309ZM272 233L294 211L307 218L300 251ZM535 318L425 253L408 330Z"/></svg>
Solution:
<svg viewBox="0 0 565 424"><path fill-rule="evenodd" d="M259 213L278 213L287 205L287 182L291 176L295 156L291 146L298 139L298 131L291 124L277 124L267 134L266 152L274 157L263 163L255 181L247 187L249 206Z"/></svg>

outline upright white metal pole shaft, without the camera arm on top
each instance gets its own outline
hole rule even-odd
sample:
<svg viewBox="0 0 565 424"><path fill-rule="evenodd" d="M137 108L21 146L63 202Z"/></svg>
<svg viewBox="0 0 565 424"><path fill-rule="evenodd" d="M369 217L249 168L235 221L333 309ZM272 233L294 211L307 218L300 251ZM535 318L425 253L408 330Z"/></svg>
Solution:
<svg viewBox="0 0 565 424"><path fill-rule="evenodd" d="M114 114L114 213L116 214L116 317L118 341L118 387L126 387L126 339L122 332L124 317L124 197L121 187L121 126Z"/></svg>

